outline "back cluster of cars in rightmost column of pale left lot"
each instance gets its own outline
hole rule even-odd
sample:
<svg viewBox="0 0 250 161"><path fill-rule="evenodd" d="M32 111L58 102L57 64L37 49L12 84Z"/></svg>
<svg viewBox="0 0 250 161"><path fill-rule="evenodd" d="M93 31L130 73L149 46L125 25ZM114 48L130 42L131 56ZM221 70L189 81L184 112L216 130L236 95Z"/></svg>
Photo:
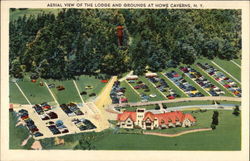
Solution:
<svg viewBox="0 0 250 161"><path fill-rule="evenodd" d="M68 116L84 115L80 108L74 103L69 103L67 105L61 104L60 107Z"/></svg>

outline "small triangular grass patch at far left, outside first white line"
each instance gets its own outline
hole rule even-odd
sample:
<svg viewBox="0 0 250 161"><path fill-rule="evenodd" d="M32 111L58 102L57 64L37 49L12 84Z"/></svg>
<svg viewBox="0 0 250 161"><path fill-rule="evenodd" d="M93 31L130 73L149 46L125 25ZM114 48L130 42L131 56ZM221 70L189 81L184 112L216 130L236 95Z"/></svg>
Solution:
<svg viewBox="0 0 250 161"><path fill-rule="evenodd" d="M9 92L10 103L28 104L27 100L24 98L20 90L12 82L10 82L9 84Z"/></svg>

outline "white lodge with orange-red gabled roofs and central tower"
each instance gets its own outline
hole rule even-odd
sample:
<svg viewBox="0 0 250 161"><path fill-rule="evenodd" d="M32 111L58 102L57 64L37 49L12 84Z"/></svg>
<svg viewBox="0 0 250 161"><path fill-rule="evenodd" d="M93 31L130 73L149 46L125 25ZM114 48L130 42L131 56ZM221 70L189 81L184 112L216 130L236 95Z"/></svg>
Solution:
<svg viewBox="0 0 250 161"><path fill-rule="evenodd" d="M138 108L135 112L125 111L117 116L117 126L120 128L142 128L152 130L171 127L189 127L195 124L196 119L191 114L181 111L153 114L146 112L144 108Z"/></svg>

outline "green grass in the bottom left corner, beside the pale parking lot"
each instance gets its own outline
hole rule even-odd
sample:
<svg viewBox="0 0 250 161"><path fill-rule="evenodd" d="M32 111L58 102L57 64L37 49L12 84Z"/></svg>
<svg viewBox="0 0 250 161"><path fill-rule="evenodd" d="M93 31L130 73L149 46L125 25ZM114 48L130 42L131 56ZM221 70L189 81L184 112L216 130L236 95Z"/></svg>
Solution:
<svg viewBox="0 0 250 161"><path fill-rule="evenodd" d="M24 126L16 127L17 117L14 112L9 113L9 148L10 149L30 149L34 139L29 139L25 146L21 146L22 141L29 136L29 131Z"/></svg>

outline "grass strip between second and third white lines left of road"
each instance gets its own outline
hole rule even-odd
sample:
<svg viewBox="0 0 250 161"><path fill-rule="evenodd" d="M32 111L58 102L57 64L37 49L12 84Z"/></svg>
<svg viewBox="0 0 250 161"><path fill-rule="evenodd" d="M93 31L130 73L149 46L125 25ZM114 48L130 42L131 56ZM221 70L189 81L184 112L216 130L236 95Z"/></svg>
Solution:
<svg viewBox="0 0 250 161"><path fill-rule="evenodd" d="M81 103L79 94L77 93L76 87L72 80L66 81L56 81L56 80L46 80L47 84L54 83L55 86L64 86L65 90L58 91L57 88L51 88L54 96L56 97L59 104L63 103Z"/></svg>

